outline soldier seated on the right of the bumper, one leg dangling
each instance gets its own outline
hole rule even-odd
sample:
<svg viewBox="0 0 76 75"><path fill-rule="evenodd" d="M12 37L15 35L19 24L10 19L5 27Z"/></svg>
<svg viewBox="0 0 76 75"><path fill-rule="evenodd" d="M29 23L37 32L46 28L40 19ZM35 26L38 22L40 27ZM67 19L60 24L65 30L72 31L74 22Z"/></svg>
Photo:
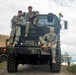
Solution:
<svg viewBox="0 0 76 75"><path fill-rule="evenodd" d="M50 33L45 34L43 37L39 38L38 45L42 48L50 48L52 52L52 63L56 63L55 57L56 57L56 45L58 41L57 35L54 33L54 27L50 28Z"/></svg>

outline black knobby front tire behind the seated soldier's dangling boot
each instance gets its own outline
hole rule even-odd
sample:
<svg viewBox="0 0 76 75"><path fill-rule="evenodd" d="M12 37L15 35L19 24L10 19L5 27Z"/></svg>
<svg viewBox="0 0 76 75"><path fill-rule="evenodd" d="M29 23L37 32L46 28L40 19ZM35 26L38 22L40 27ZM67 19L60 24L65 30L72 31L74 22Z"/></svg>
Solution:
<svg viewBox="0 0 76 75"><path fill-rule="evenodd" d="M52 60L50 60L50 71L54 73L59 73L61 70L61 50L59 49L57 51L58 54L56 54L56 64L52 64Z"/></svg>

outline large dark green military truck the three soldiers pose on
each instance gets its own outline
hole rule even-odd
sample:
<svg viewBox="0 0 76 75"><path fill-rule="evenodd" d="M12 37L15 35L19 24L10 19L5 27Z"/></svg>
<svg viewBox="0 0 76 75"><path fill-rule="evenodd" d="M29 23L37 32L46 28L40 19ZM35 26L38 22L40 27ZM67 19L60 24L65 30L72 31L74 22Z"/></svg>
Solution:
<svg viewBox="0 0 76 75"><path fill-rule="evenodd" d="M26 15L23 15L26 22ZM19 64L48 64L51 72L59 73L61 70L61 47L60 30L62 14L57 17L53 13L40 14L37 25L30 25L28 37L24 37L25 26L21 27L21 36L15 47L6 47L8 52L7 71L17 72ZM52 54L49 49L42 49L38 46L39 37L49 33L50 27L55 28L58 36L56 48L56 64L52 64ZM67 29L67 21L64 21L64 28ZM7 40L8 42L8 40Z"/></svg>

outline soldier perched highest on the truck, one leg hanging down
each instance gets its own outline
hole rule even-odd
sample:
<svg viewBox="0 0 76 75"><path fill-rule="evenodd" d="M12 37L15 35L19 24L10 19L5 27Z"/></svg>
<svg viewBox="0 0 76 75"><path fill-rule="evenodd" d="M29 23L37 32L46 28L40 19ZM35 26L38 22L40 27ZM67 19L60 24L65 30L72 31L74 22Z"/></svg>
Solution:
<svg viewBox="0 0 76 75"><path fill-rule="evenodd" d="M33 9L32 6L28 7L29 12L27 13L27 17L26 17L25 37L28 36L30 24L36 25L38 22L39 12L38 11L32 11L32 9Z"/></svg>

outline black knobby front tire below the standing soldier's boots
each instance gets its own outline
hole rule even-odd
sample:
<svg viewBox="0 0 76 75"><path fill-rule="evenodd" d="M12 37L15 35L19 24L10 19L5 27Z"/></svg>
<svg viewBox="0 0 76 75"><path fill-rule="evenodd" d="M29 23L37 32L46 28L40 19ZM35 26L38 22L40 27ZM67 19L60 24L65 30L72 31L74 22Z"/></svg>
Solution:
<svg viewBox="0 0 76 75"><path fill-rule="evenodd" d="M8 55L7 71L9 73L14 73L17 72L17 69L18 69L17 57L15 57L14 54Z"/></svg>

